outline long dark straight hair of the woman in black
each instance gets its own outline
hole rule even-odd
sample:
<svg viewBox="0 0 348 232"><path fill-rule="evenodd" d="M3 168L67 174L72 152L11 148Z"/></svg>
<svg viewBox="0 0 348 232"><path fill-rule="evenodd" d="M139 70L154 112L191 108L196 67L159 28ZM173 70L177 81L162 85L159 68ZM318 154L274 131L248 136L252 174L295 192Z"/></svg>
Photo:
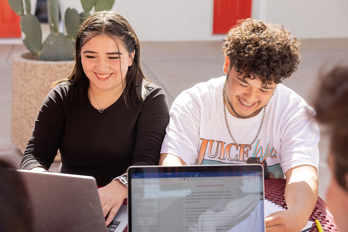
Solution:
<svg viewBox="0 0 348 232"><path fill-rule="evenodd" d="M76 85L77 90L81 91L82 100L87 98L89 80L82 68L81 47L97 35L110 37L115 41L118 48L117 40L120 41L129 54L135 51L133 63L128 67L126 74L126 85L128 88L125 89L124 98L126 104L128 97L129 102L133 105L138 101L143 101L145 97L144 80L146 78L140 66L139 39L127 19L113 11L95 12L80 25L75 41L75 67L68 78L55 82L54 86L66 81L70 85Z"/></svg>

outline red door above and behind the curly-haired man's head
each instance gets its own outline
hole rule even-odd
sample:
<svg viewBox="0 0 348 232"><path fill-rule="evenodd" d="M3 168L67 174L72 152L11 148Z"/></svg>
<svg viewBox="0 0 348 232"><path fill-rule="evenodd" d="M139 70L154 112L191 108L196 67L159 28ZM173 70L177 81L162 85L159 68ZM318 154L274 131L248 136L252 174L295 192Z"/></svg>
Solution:
<svg viewBox="0 0 348 232"><path fill-rule="evenodd" d="M213 34L226 34L238 19L250 15L251 0L214 0Z"/></svg>

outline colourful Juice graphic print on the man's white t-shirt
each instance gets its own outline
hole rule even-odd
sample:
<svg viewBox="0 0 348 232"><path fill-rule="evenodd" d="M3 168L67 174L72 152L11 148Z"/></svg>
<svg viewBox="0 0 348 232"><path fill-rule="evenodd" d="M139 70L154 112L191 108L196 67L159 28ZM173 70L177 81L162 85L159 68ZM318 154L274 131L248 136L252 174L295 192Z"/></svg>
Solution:
<svg viewBox="0 0 348 232"><path fill-rule="evenodd" d="M202 140L196 164L222 164L222 163L259 163L264 169L264 178L284 178L282 168L277 160L277 151L274 147L267 146L264 148L260 145L260 139L257 139L254 145L254 150L251 153L251 146L239 147L235 143L230 143L225 146L223 141L215 141L213 139ZM247 146L248 144L240 144ZM234 150L236 149L236 150ZM272 163L274 165L267 166L267 158L275 159ZM275 161L275 162L274 162Z"/></svg>

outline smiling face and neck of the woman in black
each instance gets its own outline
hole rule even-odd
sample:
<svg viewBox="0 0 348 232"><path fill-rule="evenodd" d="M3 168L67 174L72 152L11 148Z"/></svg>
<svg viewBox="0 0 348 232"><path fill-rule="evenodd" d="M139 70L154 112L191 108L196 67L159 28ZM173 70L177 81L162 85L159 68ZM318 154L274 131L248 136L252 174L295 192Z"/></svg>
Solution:
<svg viewBox="0 0 348 232"><path fill-rule="evenodd" d="M89 101L100 112L116 102L124 91L134 53L129 54L122 42L116 43L103 35L96 35L82 46L81 63L90 83Z"/></svg>

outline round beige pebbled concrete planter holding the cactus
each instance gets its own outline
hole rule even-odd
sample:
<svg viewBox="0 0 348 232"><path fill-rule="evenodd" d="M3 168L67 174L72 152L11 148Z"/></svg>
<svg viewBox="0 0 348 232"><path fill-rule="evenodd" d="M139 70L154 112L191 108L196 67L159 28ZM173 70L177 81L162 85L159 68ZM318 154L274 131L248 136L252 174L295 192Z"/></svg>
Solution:
<svg viewBox="0 0 348 232"><path fill-rule="evenodd" d="M68 77L74 61L39 61L28 51L12 57L11 141L22 153L53 81ZM60 153L55 161L60 161Z"/></svg>

